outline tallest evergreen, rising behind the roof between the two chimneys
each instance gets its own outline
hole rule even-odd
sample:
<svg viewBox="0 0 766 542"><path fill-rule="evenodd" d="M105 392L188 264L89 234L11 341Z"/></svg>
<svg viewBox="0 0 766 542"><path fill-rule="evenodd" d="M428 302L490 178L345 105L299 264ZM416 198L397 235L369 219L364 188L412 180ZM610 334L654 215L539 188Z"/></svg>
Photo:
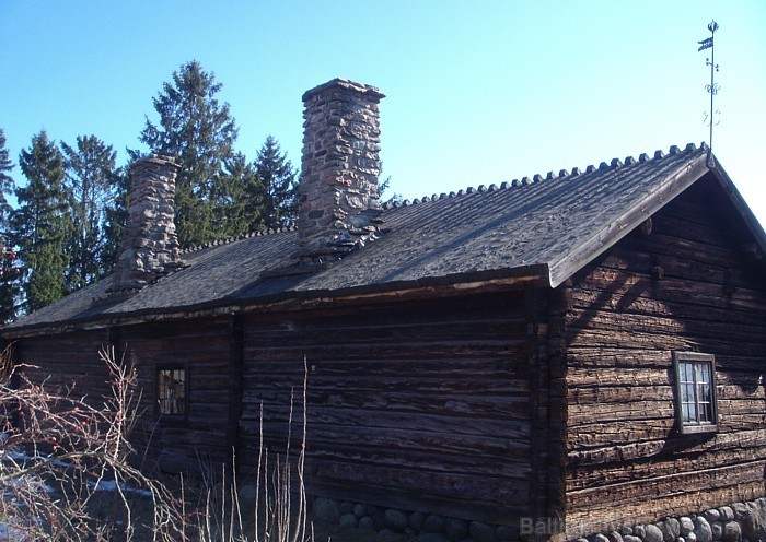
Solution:
<svg viewBox="0 0 766 542"><path fill-rule="evenodd" d="M232 191L225 165L234 156L237 129L229 104L216 94L221 84L199 62L185 63L173 72L154 98L160 123L147 118L140 141L152 153L176 157L182 170L176 179L175 223L182 247L225 237L214 222L225 215L219 196Z"/></svg>

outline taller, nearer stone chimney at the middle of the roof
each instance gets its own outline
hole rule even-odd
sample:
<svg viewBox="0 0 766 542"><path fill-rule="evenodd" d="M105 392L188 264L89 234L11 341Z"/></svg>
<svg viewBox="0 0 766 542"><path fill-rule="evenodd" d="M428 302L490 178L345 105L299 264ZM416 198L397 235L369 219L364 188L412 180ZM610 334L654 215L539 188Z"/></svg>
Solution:
<svg viewBox="0 0 766 542"><path fill-rule="evenodd" d="M334 79L303 95L298 219L301 264L332 262L375 239L381 172L374 86Z"/></svg>

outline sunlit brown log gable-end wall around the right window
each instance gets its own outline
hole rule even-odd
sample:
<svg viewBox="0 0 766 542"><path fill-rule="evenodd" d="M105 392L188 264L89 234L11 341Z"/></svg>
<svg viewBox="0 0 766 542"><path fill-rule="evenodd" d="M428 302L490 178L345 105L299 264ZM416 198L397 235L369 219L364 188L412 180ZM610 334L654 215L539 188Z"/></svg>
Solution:
<svg viewBox="0 0 766 542"><path fill-rule="evenodd" d="M567 294L570 537L766 495L766 279L717 190L684 192ZM716 355L715 435L675 429L674 350Z"/></svg>

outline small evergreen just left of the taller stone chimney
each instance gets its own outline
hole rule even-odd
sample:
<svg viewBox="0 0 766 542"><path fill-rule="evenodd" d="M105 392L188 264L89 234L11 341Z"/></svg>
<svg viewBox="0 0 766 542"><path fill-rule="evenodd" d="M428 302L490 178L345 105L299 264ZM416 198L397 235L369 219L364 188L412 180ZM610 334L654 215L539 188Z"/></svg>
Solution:
<svg viewBox="0 0 766 542"><path fill-rule="evenodd" d="M255 160L255 175L263 185L264 223L277 228L292 224L298 217L297 173L282 154L277 140L269 136Z"/></svg>

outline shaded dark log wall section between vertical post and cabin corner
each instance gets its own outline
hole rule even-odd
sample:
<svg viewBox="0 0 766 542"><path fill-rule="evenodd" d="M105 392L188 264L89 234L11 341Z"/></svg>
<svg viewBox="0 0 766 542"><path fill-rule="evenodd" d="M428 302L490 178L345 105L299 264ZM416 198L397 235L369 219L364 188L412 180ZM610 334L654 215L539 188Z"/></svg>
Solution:
<svg viewBox="0 0 766 542"><path fill-rule="evenodd" d="M266 443L282 449L294 389L299 433L305 357L314 495L495 522L529 514L522 293L252 314L244 328L244 474L262 403Z"/></svg>

